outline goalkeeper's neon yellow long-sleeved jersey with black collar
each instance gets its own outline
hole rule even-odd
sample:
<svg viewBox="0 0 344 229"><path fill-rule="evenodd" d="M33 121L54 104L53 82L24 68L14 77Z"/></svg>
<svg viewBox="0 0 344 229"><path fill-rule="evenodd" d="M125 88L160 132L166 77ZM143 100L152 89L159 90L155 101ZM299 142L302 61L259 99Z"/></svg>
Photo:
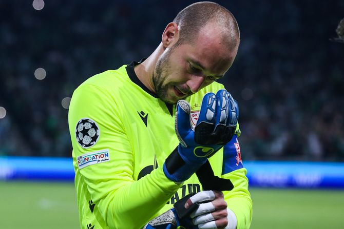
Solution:
<svg viewBox="0 0 344 229"><path fill-rule="evenodd" d="M162 165L179 144L176 107L148 91L133 70L137 64L90 77L73 93L68 122L81 228L142 228L183 196L202 191L196 175L182 184L164 175ZM214 82L186 99L193 121L203 95L222 88ZM210 162L215 175L232 180L225 200L237 228L248 228L252 201L235 150L226 155L221 149Z"/></svg>

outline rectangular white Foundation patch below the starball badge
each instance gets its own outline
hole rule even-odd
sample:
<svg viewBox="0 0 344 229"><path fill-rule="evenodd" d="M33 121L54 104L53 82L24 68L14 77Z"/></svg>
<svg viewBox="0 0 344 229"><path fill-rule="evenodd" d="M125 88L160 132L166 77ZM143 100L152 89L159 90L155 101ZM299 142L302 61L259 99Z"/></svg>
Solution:
<svg viewBox="0 0 344 229"><path fill-rule="evenodd" d="M100 150L87 154L83 154L78 157L78 167L83 169L91 164L99 164L110 160L109 150Z"/></svg>

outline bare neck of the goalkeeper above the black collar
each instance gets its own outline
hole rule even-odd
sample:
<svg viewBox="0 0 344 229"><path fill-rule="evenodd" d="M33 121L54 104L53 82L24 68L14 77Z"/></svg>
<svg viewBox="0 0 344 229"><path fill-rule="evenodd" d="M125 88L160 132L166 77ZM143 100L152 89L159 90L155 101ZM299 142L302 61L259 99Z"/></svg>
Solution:
<svg viewBox="0 0 344 229"><path fill-rule="evenodd" d="M145 61L136 66L134 69L142 84L146 86L149 91L154 93L156 93L156 90L153 84L153 73L158 59L163 52L163 45L160 43L158 48L147 59L145 59Z"/></svg>

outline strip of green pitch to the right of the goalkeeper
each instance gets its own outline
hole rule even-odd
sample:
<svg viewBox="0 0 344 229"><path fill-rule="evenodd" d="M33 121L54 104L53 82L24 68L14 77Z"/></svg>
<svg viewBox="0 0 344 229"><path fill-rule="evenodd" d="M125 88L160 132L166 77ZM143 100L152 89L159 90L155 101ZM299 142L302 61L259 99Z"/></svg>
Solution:
<svg viewBox="0 0 344 229"><path fill-rule="evenodd" d="M251 189L251 228L344 228L344 191Z"/></svg>

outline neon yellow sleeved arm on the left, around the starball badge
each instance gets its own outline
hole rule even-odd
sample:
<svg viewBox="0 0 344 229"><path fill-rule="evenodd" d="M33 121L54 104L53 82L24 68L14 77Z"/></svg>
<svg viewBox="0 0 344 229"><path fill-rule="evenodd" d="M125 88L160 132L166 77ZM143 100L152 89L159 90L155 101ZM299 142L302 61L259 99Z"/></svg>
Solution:
<svg viewBox="0 0 344 229"><path fill-rule="evenodd" d="M170 181L162 167L138 181L133 180L132 147L121 123L121 110L107 93L96 86L83 85L72 97L69 126L75 173L80 177L79 184L76 180L78 195L86 189L83 192L90 195L106 226L140 228L155 216L181 184ZM75 140L75 126L85 117L97 122L100 130L97 143L86 149ZM109 161L78 168L79 156L104 149L109 151Z"/></svg>

